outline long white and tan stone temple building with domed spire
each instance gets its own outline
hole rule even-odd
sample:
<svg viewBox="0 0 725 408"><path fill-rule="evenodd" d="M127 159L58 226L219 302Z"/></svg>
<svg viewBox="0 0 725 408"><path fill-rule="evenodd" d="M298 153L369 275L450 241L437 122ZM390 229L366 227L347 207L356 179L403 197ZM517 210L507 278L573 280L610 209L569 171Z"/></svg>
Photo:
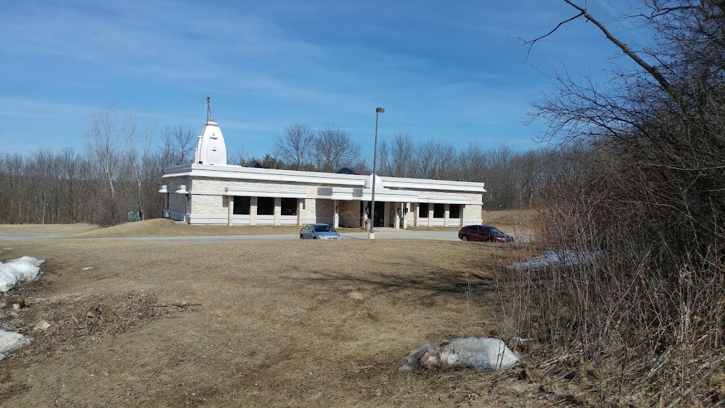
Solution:
<svg viewBox="0 0 725 408"><path fill-rule="evenodd" d="M457 227L481 223L484 183L229 166L211 115L194 163L166 168L164 216L188 224Z"/></svg>

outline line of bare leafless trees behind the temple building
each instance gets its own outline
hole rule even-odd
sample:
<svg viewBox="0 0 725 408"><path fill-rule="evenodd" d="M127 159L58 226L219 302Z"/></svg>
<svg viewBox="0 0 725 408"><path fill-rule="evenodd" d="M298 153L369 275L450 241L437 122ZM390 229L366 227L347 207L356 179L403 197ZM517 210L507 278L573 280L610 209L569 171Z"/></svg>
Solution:
<svg viewBox="0 0 725 408"><path fill-rule="evenodd" d="M38 147L27 155L0 153L0 224L117 224L138 212L142 219L162 215L158 190L164 168L191 163L197 132L186 126L159 129L154 118L119 115L115 107L93 113L83 130L83 147L59 151ZM457 150L443 140L416 142L399 132L378 145L381 176L486 183L487 209L528 208L546 179L552 151L518 152L504 144L470 144ZM372 172L349 132L292 123L262 158L244 150L228 163L265 168L334 172L347 167Z"/></svg>

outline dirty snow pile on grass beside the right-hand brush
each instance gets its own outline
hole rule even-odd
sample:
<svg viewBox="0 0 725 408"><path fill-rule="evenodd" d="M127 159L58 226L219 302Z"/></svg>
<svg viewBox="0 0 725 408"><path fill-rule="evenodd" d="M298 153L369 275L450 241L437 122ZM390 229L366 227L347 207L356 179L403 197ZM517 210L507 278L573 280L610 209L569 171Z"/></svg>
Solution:
<svg viewBox="0 0 725 408"><path fill-rule="evenodd" d="M407 364L403 364L398 370L417 370L419 367L473 367L476 370L493 371L513 366L518 362L519 356L503 340L469 337L444 341L437 346L426 344L410 351L405 359Z"/></svg>

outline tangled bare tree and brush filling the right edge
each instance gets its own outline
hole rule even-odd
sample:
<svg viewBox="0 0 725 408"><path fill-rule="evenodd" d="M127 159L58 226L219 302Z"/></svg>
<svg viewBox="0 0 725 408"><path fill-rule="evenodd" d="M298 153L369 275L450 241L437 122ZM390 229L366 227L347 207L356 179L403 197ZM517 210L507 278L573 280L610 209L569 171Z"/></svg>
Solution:
<svg viewBox="0 0 725 408"><path fill-rule="evenodd" d="M601 257L522 274L538 290L526 329L546 333L547 355L595 365L598 404L712 404L696 389L725 361L725 5L647 0L629 18L654 38L637 46L564 1L576 15L528 44L587 19L634 68L605 84L565 70L535 105L561 146L537 245Z"/></svg>

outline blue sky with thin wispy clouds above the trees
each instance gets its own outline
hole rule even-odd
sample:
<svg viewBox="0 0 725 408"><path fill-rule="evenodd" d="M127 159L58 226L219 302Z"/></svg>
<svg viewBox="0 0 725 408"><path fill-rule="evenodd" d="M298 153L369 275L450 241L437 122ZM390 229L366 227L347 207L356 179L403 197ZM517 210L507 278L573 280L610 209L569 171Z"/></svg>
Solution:
<svg viewBox="0 0 725 408"><path fill-rule="evenodd" d="M590 1L614 19L634 1ZM618 50L560 0L0 0L0 140L5 152L83 147L92 113L202 128L212 99L228 151L261 156L294 122L342 128L372 153L378 137L515 149L546 123L523 119L552 67L605 78Z"/></svg>

